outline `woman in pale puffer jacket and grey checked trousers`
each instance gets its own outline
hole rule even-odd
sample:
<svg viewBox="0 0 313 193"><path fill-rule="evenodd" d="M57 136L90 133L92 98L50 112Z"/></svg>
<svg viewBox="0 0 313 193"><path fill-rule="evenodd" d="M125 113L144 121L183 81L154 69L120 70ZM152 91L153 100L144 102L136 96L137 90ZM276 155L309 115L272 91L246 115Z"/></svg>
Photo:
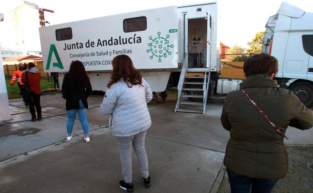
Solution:
<svg viewBox="0 0 313 193"><path fill-rule="evenodd" d="M151 126L147 103L152 99L152 92L127 55L116 56L112 65L109 89L104 95L101 111L110 115L109 127L116 136L120 151L124 180L119 182L119 186L132 192L131 145L138 158L144 186L150 186L144 139Z"/></svg>

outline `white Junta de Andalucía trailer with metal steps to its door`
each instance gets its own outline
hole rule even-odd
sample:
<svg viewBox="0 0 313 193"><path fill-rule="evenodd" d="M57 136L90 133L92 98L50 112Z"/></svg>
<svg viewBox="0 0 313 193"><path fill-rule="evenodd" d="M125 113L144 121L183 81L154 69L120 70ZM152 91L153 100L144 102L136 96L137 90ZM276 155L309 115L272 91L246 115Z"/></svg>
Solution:
<svg viewBox="0 0 313 193"><path fill-rule="evenodd" d="M179 89L177 111L204 113L207 95L214 90L214 81L209 80L217 79L220 70L217 20L217 3L213 2L43 27L39 32L44 69L60 72L62 82L71 61L80 60L93 90L105 91L112 59L126 54L152 91L165 91L172 74L170 82ZM189 71L205 76L188 77ZM182 108L190 104L202 109Z"/></svg>

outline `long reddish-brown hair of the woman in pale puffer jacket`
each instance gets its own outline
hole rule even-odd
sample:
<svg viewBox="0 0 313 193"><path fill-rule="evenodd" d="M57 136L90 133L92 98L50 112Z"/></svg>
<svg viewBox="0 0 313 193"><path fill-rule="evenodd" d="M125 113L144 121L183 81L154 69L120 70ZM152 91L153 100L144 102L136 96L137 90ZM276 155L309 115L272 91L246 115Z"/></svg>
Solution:
<svg viewBox="0 0 313 193"><path fill-rule="evenodd" d="M113 58L112 61L113 72L111 74L111 80L107 84L107 87L110 88L114 83L118 82L121 78L127 83L129 88L132 85L142 85L142 77L139 70L135 69L132 64L131 59L127 55L118 55ZM128 84L130 83L130 85Z"/></svg>

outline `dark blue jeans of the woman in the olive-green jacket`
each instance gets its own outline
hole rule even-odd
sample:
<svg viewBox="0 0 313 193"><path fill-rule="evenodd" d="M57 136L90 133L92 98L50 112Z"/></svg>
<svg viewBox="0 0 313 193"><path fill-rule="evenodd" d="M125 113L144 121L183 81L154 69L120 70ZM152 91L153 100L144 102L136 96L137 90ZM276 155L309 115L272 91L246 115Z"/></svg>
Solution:
<svg viewBox="0 0 313 193"><path fill-rule="evenodd" d="M278 179L258 179L237 175L227 169L231 193L271 193Z"/></svg>

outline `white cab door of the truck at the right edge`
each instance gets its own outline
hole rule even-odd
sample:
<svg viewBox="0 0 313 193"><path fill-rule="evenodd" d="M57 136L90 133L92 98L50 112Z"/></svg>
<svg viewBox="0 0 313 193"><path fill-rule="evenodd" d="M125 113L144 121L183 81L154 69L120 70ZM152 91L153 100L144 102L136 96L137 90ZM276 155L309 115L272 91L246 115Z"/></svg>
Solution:
<svg viewBox="0 0 313 193"><path fill-rule="evenodd" d="M283 63L283 77L307 79L309 55L303 50L302 36L308 33L289 33Z"/></svg>

